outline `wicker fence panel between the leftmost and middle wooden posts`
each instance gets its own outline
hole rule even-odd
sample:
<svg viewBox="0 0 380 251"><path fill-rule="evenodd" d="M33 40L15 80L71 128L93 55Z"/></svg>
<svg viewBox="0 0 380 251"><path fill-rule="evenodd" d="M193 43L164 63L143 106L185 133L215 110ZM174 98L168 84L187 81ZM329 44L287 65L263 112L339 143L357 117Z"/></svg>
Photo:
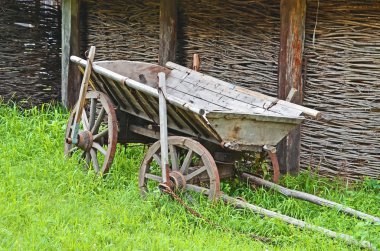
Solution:
<svg viewBox="0 0 380 251"><path fill-rule="evenodd" d="M83 1L82 53L96 46L96 60L158 62L159 1Z"/></svg>

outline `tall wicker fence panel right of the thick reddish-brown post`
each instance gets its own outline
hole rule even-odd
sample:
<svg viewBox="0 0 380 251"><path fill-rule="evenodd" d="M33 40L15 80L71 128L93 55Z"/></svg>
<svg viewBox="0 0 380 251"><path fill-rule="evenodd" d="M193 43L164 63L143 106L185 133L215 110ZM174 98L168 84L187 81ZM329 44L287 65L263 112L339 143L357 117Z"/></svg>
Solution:
<svg viewBox="0 0 380 251"><path fill-rule="evenodd" d="M302 163L329 176L380 178L380 2L308 1Z"/></svg>

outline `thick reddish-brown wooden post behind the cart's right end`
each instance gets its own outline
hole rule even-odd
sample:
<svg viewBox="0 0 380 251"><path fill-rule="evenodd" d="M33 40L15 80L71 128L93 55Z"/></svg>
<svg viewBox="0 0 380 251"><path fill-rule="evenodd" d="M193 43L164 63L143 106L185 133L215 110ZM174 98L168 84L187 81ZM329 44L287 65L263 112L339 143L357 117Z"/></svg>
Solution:
<svg viewBox="0 0 380 251"><path fill-rule="evenodd" d="M278 72L278 97L285 100L296 90L293 102L302 104L302 55L305 38L306 0L281 0L280 55ZM282 172L295 174L300 162L300 126L294 129L277 146Z"/></svg>

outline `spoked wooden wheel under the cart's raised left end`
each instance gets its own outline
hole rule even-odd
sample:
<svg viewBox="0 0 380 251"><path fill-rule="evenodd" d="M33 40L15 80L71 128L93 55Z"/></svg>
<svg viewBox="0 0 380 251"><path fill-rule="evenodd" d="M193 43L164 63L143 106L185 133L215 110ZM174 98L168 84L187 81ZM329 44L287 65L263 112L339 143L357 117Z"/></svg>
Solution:
<svg viewBox="0 0 380 251"><path fill-rule="evenodd" d="M116 150L117 118L111 100L103 93L90 91L79 127L78 144L70 144L76 109L70 114L65 135L65 155L79 156L86 162L86 168L96 173L108 172Z"/></svg>

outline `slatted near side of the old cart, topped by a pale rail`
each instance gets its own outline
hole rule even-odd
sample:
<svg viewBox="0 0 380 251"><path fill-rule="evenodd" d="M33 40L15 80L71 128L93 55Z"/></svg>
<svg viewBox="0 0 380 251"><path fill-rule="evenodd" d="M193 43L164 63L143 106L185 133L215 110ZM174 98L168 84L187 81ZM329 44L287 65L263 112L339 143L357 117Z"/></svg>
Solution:
<svg viewBox="0 0 380 251"><path fill-rule="evenodd" d="M87 62L76 56L71 56L71 61L80 67L85 67ZM104 92L115 102L120 110L131 115L158 124L158 90L149 85L132 80L121 74L115 73L104 67L93 64L93 88ZM168 102L168 126L170 129L180 132L181 135L202 138L213 144L220 144L222 139L210 125L206 118L209 111L198 108L192 103L179 99L171 94L166 94ZM140 127L137 128L136 126ZM135 133L147 136L146 128L140 125L132 125L129 129Z"/></svg>

